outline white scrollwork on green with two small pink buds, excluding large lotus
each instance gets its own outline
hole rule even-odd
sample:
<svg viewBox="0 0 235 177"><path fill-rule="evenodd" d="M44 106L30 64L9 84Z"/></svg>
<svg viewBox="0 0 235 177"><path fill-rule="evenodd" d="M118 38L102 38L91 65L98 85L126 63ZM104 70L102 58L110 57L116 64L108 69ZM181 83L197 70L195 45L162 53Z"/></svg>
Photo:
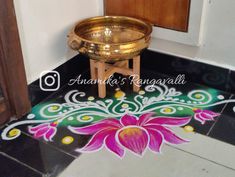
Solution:
<svg viewBox="0 0 235 177"><path fill-rule="evenodd" d="M146 86L138 94L128 96L118 90L113 98L107 99L95 99L84 92L71 90L64 96L63 103L55 101L35 106L26 120L6 127L1 137L3 140L13 140L21 134L16 127L29 125L29 133L35 138L53 141L59 126L70 127L69 130L74 133L71 127L84 127L108 118L120 120L125 115L140 117L147 113L179 119L190 117L205 124L219 115L210 111L211 107L228 102L235 100L225 100L214 89L192 90L185 94L166 85Z"/></svg>

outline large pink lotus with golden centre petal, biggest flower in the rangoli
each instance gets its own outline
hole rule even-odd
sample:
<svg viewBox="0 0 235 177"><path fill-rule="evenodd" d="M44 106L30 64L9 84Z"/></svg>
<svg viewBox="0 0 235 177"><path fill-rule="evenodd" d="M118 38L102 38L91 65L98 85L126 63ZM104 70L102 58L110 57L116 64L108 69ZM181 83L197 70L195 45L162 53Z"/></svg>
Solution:
<svg viewBox="0 0 235 177"><path fill-rule="evenodd" d="M119 157L125 154L125 148L142 156L147 147L159 153L163 143L181 144L187 142L175 135L168 127L187 124L189 117L170 118L152 117L153 113L141 115L139 118L125 115L120 120L104 119L85 127L69 127L77 134L93 135L90 141L79 152L97 151L106 146Z"/></svg>

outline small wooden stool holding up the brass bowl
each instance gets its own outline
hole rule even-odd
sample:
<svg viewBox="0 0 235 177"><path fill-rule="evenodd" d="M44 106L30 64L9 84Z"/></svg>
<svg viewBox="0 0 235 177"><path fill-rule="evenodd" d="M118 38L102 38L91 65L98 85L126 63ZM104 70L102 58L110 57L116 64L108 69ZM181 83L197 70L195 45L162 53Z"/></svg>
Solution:
<svg viewBox="0 0 235 177"><path fill-rule="evenodd" d="M131 60L131 59L130 59ZM105 81L114 73L123 75L135 75L135 81L140 78L140 56L136 56L133 59L133 68L129 67L129 60L117 61L113 64L105 63L104 61L98 61L90 59L90 74L92 80L98 79L98 92L99 97L106 97L106 84ZM101 82L99 82L101 81ZM138 82L133 82L133 91L138 92L140 85Z"/></svg>

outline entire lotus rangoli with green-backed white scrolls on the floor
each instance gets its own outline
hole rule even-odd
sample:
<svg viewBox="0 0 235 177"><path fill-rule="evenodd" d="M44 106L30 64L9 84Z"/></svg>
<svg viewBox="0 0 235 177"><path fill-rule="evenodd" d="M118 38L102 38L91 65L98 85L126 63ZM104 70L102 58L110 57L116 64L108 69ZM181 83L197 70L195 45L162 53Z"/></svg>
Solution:
<svg viewBox="0 0 235 177"><path fill-rule="evenodd" d="M113 98L107 99L96 99L72 90L64 96L63 103L55 100L38 104L26 120L6 127L1 137L13 140L21 135L21 130L16 127L29 125L30 134L50 142L58 127L64 127L75 136L91 136L84 147L76 150L78 152L95 152L105 147L121 158L126 150L142 156L146 149L160 153L164 143L188 142L176 135L171 127L185 126L191 119L203 126L219 116L210 108L228 102L235 100L225 100L223 95L210 88L185 94L166 85L149 85L138 94L126 95L117 90ZM62 142L69 145L73 140L68 136Z"/></svg>

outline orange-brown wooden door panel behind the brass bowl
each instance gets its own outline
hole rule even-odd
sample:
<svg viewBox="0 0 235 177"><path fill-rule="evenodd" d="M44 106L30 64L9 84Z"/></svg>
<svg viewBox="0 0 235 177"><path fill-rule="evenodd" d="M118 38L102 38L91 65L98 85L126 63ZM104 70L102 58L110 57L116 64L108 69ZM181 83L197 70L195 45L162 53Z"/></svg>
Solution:
<svg viewBox="0 0 235 177"><path fill-rule="evenodd" d="M190 0L104 0L105 15L140 18L155 26L187 32Z"/></svg>

